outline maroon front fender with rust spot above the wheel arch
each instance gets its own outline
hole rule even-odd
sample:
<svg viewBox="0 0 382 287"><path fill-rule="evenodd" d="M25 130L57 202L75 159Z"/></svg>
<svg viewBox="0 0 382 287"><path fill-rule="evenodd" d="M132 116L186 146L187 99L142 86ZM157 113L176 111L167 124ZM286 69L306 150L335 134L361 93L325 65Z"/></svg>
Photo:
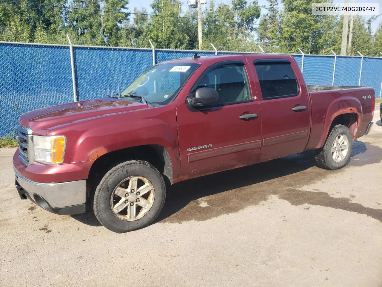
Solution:
<svg viewBox="0 0 382 287"><path fill-rule="evenodd" d="M117 113L73 122L49 134L66 136L64 163L94 161L106 153L140 145L160 145L180 176L175 110L171 107Z"/></svg>

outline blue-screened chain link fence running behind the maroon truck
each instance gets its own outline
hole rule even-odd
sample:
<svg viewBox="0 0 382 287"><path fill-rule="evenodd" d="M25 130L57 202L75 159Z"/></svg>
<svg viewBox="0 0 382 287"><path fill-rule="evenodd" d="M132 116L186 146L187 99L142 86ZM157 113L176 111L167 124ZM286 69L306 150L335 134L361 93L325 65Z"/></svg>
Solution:
<svg viewBox="0 0 382 287"><path fill-rule="evenodd" d="M73 51L77 100L115 96L153 63L192 57L195 52L201 56L243 53L94 46L73 46ZM371 86L380 97L382 59L293 57L308 85ZM0 137L14 135L23 113L73 102L70 46L0 42L0 93Z"/></svg>

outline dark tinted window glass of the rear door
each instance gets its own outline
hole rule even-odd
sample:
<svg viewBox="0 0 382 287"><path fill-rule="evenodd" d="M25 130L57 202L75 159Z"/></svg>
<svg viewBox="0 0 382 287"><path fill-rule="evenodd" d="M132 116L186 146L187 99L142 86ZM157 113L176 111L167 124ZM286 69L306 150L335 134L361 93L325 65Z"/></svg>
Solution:
<svg viewBox="0 0 382 287"><path fill-rule="evenodd" d="M289 63L255 63L262 98L275 99L298 95L298 84Z"/></svg>

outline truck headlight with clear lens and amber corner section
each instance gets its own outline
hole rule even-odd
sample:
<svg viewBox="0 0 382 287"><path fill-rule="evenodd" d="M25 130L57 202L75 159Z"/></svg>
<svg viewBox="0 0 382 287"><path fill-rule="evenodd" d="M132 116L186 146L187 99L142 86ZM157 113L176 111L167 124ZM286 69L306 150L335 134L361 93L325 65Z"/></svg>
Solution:
<svg viewBox="0 0 382 287"><path fill-rule="evenodd" d="M63 163L65 143L66 138L63 135L34 135L34 160L41 163Z"/></svg>

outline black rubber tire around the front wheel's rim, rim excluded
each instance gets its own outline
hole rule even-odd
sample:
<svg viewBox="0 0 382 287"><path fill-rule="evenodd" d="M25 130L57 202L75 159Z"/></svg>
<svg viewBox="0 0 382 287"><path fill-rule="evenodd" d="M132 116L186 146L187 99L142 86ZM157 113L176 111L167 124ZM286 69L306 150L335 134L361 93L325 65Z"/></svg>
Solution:
<svg viewBox="0 0 382 287"><path fill-rule="evenodd" d="M110 204L114 189L130 176L141 176L154 186L154 202L146 215L134 221L120 219ZM130 160L110 169L100 180L94 192L93 210L95 217L107 229L123 233L150 225L160 214L166 198L166 186L162 174L147 161Z"/></svg>

